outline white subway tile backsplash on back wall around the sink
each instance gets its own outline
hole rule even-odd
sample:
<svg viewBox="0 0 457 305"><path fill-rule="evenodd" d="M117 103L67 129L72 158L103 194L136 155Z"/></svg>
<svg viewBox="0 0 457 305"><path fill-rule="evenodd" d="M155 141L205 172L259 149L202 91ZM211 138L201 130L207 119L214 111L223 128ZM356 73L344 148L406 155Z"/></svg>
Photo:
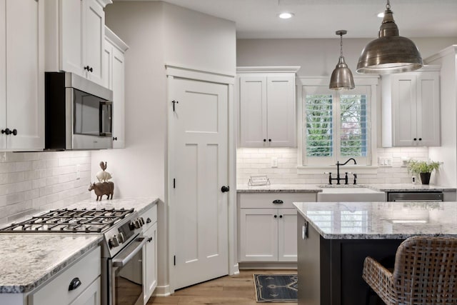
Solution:
<svg viewBox="0 0 457 305"><path fill-rule="evenodd" d="M411 174L402 158L428 159L426 147L377 149L378 157L392 158L391 166L379 167L377 174L358 174L359 184L411 183ZM272 168L272 158L278 167ZM297 174L296 148L238 148L236 151L236 182L247 184L251 175L266 175L271 184L327 184L326 174Z"/></svg>

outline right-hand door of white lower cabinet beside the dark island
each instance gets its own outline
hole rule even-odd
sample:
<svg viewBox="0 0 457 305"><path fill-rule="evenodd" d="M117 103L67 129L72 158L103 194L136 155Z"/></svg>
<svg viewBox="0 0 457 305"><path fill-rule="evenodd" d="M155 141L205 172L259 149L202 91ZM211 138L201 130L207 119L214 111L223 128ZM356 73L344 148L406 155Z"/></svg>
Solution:
<svg viewBox="0 0 457 305"><path fill-rule="evenodd" d="M297 211L278 210L278 261L297 261Z"/></svg>

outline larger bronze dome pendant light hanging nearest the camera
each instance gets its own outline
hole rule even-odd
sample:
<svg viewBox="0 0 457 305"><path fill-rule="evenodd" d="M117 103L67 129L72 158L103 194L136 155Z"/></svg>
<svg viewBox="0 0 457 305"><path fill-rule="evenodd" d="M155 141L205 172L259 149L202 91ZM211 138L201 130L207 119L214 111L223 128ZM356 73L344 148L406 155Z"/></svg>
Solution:
<svg viewBox="0 0 457 305"><path fill-rule="evenodd" d="M391 4L387 0L378 39L368 43L357 64L357 73L393 74L413 71L423 66L421 54L410 39L399 36L393 20Z"/></svg>

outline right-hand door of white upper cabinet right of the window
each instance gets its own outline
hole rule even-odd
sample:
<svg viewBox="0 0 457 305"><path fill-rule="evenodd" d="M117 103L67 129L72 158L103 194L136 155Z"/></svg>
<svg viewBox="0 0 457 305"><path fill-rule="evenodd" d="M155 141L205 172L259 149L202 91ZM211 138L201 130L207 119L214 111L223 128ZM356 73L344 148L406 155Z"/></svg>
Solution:
<svg viewBox="0 0 457 305"><path fill-rule="evenodd" d="M438 72L422 72L417 85L417 141L418 146L439 146L440 85Z"/></svg>

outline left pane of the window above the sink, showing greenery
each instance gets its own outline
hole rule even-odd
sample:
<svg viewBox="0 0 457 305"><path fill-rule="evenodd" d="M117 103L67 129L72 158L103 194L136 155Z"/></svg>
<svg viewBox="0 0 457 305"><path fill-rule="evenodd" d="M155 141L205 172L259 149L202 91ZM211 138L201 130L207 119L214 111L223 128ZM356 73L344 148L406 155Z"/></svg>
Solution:
<svg viewBox="0 0 457 305"><path fill-rule="evenodd" d="M331 94L306 95L306 156L333 155Z"/></svg>

